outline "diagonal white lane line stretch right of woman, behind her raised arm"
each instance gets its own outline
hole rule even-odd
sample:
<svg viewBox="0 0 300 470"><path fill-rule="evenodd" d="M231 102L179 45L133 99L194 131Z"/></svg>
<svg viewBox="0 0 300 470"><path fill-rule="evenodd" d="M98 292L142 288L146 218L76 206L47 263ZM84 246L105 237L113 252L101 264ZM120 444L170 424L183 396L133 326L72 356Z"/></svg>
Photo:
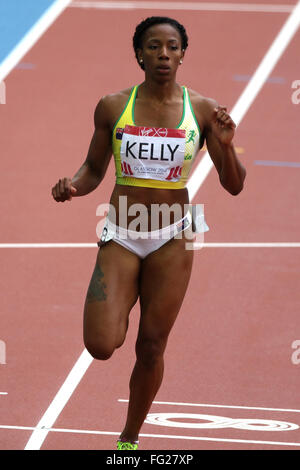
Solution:
<svg viewBox="0 0 300 470"><path fill-rule="evenodd" d="M287 21L281 28L279 34L273 41L270 49L268 50L263 60L257 67L254 75L252 76L248 85L239 97L234 108L229 113L233 121L236 123L237 127L242 121L245 114L247 113L250 106L252 105L253 101L257 97L258 93L260 92L268 76L274 69L278 60L282 56L283 52L287 48L288 44L296 33L299 24L300 2L296 4L295 8L293 9L293 12L288 17ZM206 152L187 183L191 199L194 198L213 166L214 165L209 156L209 153Z"/></svg>

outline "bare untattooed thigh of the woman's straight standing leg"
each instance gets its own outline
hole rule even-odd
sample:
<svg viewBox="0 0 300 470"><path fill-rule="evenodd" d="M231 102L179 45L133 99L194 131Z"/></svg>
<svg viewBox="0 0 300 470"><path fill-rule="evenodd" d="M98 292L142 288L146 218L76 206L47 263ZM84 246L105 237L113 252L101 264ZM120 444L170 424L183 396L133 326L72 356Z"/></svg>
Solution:
<svg viewBox="0 0 300 470"><path fill-rule="evenodd" d="M193 265L186 239L172 239L143 260L140 334L167 338L180 310Z"/></svg>

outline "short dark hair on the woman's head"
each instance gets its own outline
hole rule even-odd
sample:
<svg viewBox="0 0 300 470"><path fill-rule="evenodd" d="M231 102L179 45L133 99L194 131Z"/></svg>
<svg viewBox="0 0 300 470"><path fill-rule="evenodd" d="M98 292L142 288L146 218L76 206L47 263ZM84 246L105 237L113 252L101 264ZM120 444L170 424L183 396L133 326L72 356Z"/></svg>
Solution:
<svg viewBox="0 0 300 470"><path fill-rule="evenodd" d="M151 26L164 23L170 24L175 29L177 29L181 37L181 48L185 50L188 47L188 36L186 34L186 30L184 26L182 26L182 24L178 23L178 21L167 16L150 16L149 18L146 18L140 24L137 25L133 36L133 49L135 52L135 57L138 61L139 66L143 70L145 70L145 67L144 64L141 64L138 60L137 50L142 49L144 33L147 31L148 28L151 28Z"/></svg>

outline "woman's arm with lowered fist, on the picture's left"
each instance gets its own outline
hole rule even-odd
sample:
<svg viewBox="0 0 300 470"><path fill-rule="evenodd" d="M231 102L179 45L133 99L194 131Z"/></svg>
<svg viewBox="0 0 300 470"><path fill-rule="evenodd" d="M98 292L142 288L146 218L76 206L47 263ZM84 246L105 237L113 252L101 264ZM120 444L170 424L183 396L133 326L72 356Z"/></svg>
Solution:
<svg viewBox="0 0 300 470"><path fill-rule="evenodd" d="M71 200L74 196L90 193L103 180L112 155L111 126L107 101L102 98L94 113L95 130L87 157L73 176L62 178L52 188L52 196L57 202Z"/></svg>

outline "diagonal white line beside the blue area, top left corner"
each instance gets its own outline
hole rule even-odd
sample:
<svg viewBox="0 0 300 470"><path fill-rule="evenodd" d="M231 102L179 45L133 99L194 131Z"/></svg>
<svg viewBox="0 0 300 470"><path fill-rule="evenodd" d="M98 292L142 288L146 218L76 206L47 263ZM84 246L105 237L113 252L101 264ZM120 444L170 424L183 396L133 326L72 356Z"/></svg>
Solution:
<svg viewBox="0 0 300 470"><path fill-rule="evenodd" d="M34 46L56 18L64 11L72 0L56 0L30 28L23 39L14 47L0 64L0 82L11 72L25 54Z"/></svg>

